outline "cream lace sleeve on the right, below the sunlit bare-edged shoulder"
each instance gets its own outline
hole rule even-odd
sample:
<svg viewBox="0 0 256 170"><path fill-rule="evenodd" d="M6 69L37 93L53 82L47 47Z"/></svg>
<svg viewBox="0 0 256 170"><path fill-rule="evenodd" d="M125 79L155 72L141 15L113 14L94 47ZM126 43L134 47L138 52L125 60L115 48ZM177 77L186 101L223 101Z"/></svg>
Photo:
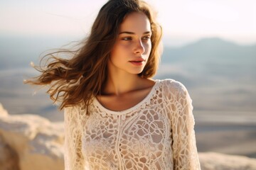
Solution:
<svg viewBox="0 0 256 170"><path fill-rule="evenodd" d="M196 136L194 131L192 100L183 84L174 81L171 87L172 102L172 149L174 169L200 170Z"/></svg>

